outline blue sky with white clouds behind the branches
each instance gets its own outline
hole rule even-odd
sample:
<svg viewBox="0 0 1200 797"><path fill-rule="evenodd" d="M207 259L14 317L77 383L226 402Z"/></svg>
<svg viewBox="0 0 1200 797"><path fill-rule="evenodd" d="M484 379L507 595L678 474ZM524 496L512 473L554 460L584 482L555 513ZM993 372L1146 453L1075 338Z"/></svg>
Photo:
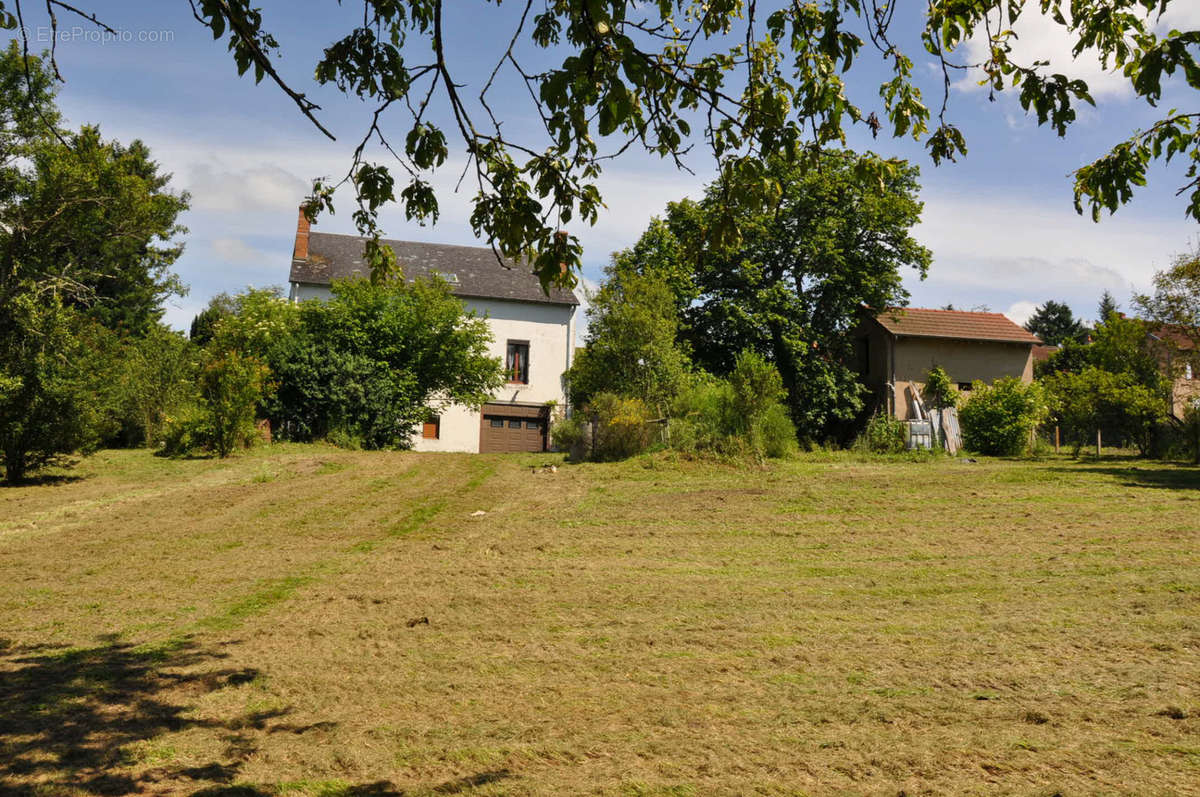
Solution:
<svg viewBox="0 0 1200 797"><path fill-rule="evenodd" d="M286 286L299 203L313 178L344 174L370 120L370 107L312 79L323 48L354 26L355 4L262 5L265 26L281 44L281 73L322 106L318 116L336 142L269 82L256 85L248 76L238 77L223 43L212 41L182 0L95 4L103 22L120 31L118 37L60 14L56 56L65 83L58 102L67 121L98 124L106 137L122 142L142 139L173 174L172 187L191 194L191 209L181 218L188 228L186 248L175 266L190 290L168 300L166 313L180 329L217 293ZM520 7L454 0L448 8L455 74L467 84L464 94L474 96L508 43ZM1177 0L1169 14L1163 26L1200 28L1200 4ZM48 47L47 20L30 13L25 22L31 47ZM911 53L919 53L919 25L918 16L895 25L896 38ZM847 142L920 167L924 212L914 234L932 251L934 263L925 280L906 276L911 304L988 307L1018 323L1049 299L1091 319L1104 290L1128 307L1156 270L1200 245L1200 226L1184 216L1186 202L1175 196L1184 182L1182 169L1156 167L1150 185L1099 223L1075 212L1070 172L1162 110L1135 98L1121 76L1106 72L1091 54L1073 61L1069 41L1037 14L1026 14L1015 30L1020 56L1049 60L1054 68L1084 77L1092 89L1097 107L1080 109L1066 139L1038 127L1012 92L990 98L971 76L962 76L955 78L949 112L967 138L968 155L959 162L935 167L919 144L882 134L872 140L856 132ZM979 48L968 42L964 60L976 60ZM864 58L864 71L852 73L848 89L852 98L870 103L884 72L878 59ZM934 102L941 74L917 61L918 82ZM535 118L523 88L511 78L500 73L493 106L509 120L505 132L520 133ZM1174 98L1194 103L1184 91L1168 86L1162 108ZM396 138L407 131L404 121L402 115L383 119ZM455 192L463 164L455 143L451 137L451 158L434 179L442 188L439 222L420 227L400 209L389 209L382 216L388 238L481 244L468 223L472 192ZM607 206L598 223L571 226L584 247L586 284L601 278L610 254L632 245L667 202L702 193L714 176L713 163L696 155L689 167L691 173L680 172L636 152L608 162L599 184ZM340 196L340 211L323 216L317 229L353 233L350 204L350 197Z"/></svg>

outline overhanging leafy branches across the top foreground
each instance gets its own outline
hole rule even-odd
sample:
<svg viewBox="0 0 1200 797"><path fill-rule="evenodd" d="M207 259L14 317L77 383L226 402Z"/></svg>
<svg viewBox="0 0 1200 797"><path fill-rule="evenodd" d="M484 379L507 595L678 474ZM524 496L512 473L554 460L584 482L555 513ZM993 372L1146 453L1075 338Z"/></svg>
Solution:
<svg viewBox="0 0 1200 797"><path fill-rule="evenodd" d="M332 137L302 86L277 71L280 44L260 10L248 0L188 1L197 22L228 47L239 74L274 83ZM719 164L731 205L779 196L782 186L766 170L768 160L811 163L821 149L844 145L853 128L913 138L935 163L955 160L967 143L950 108L952 76L967 70L994 94L1015 92L1039 125L1064 136L1079 104L1093 103L1087 83L1051 72L1044 61L1019 59L1018 19L1045 16L1075 55L1094 52L1136 96L1158 106L1171 85L1200 89L1200 31L1158 24L1170 6L1193 1L928 0L908 11L920 16L919 46L910 47L899 43L900 28L913 17L898 18L896 11L913 6L882 0L517 0L511 30L496 31L503 49L494 70L476 83L466 80L467 65L445 46L448 26L462 24L446 10L463 4L348 2L355 12L361 6L361 14L313 55L314 78L367 101L374 114L344 178L317 181L307 208L331 210L334 188L352 184L366 254L373 272L385 275L395 263L379 244L378 210L395 202L409 220L436 220L431 174L451 149L462 149L476 234L505 256L532 260L544 283L569 281L571 271L560 277L559 264L577 269L581 251L560 229L572 218L595 221L602 206L596 178L610 157L640 148L682 164L702 143ZM106 26L96 17L103 16L98 4L47 0L43 10L28 0L0 0L0 22L8 28L28 28L34 13L52 25L64 14ZM968 40L986 44L982 62L964 60ZM880 64L886 77L877 100L850 98L847 89L858 89L859 76ZM914 76L930 64L942 85L937 96L925 97ZM529 104L500 104L502 85L526 90ZM541 131L510 134L527 118ZM1152 162L1166 161L1181 164L1180 193L1188 196L1188 215L1200 218L1198 121L1200 109L1172 108L1115 142L1075 170L1076 208L1097 218L1115 211L1145 184ZM368 144L394 160L370 161ZM888 179L899 166L876 158L863 168ZM710 233L738 238L732 208Z"/></svg>

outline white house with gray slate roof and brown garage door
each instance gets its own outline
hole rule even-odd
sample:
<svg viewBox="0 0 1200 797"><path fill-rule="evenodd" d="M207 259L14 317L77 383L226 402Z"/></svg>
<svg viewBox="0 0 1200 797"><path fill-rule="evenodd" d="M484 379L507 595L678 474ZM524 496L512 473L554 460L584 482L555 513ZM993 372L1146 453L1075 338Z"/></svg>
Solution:
<svg viewBox="0 0 1200 797"><path fill-rule="evenodd" d="M566 407L563 372L571 367L578 300L541 289L528 268L502 264L487 247L384 241L404 277L438 275L492 329L492 354L508 384L482 407L450 406L413 436L419 451L544 451L552 406ZM370 276L364 240L310 228L304 211L292 253L289 298L326 299L334 280Z"/></svg>

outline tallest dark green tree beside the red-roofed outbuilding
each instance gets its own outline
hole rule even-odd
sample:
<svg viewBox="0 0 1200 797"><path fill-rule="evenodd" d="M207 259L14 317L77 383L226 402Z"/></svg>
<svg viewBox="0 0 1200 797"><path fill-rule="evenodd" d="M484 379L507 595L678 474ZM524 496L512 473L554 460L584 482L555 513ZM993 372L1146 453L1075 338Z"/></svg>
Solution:
<svg viewBox="0 0 1200 797"><path fill-rule="evenodd" d="M721 246L708 234L725 212L726 186L700 203L670 206L667 223L694 264L697 298L684 313L696 362L726 374L738 353L770 359L803 437L848 438L863 409L850 331L863 306L904 304L901 270L924 276L930 253L910 234L922 204L917 169L880 184L864 179L864 156L827 152L816 169L773 166L786 186L766 212L738 218L743 238Z"/></svg>

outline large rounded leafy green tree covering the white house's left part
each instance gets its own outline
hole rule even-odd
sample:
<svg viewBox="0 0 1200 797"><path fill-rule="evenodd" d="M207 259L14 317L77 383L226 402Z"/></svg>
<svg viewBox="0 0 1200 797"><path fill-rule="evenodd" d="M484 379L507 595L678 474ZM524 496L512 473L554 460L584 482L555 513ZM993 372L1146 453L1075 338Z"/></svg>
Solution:
<svg viewBox="0 0 1200 797"><path fill-rule="evenodd" d="M352 280L332 290L329 301L302 302L294 324L262 294L240 302L244 313L274 316L281 330L270 346L240 337L271 370L264 414L272 429L293 439L336 433L366 448L407 448L431 412L479 407L502 386L487 323L445 282ZM253 314L238 318L263 328ZM222 322L216 340L236 340L233 326Z"/></svg>

